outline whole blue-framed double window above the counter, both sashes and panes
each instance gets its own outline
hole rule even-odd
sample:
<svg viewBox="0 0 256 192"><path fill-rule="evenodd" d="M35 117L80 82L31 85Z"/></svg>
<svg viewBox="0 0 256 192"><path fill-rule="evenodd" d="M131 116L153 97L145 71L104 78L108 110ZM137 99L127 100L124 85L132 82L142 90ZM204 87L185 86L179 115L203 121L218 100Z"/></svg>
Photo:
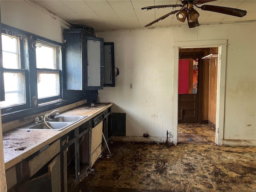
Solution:
<svg viewBox="0 0 256 192"><path fill-rule="evenodd" d="M4 76L2 114L62 99L61 46L15 28L1 29Z"/></svg>

